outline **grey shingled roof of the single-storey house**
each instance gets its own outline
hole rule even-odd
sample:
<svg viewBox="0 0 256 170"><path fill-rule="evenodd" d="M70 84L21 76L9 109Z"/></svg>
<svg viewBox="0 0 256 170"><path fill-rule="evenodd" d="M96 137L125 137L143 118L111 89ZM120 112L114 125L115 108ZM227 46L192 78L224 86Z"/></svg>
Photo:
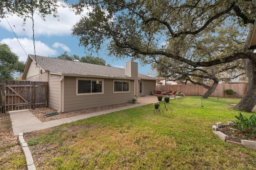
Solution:
<svg viewBox="0 0 256 170"><path fill-rule="evenodd" d="M126 76L124 68L102 66L97 64L82 63L78 61L68 61L57 58L44 57L39 55L28 55L34 62L38 64L43 70L55 74L74 74L74 75L88 75L101 76L112 78L130 78ZM27 61L28 62L28 61ZM157 80L145 74L138 73L139 79Z"/></svg>

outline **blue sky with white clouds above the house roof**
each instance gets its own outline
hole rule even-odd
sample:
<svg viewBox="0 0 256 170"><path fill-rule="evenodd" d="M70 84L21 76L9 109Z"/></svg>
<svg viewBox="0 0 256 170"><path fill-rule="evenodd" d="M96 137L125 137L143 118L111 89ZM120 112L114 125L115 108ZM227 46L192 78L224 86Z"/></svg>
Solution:
<svg viewBox="0 0 256 170"><path fill-rule="evenodd" d="M61 7L58 9L58 14L59 18L47 16L46 21L34 15L36 55L57 57L66 51L68 55L86 56L84 47L78 46L79 39L71 35L71 28L79 21L80 16L76 16L68 8ZM82 15L86 15L86 11ZM6 18L24 50L12 32ZM28 20L26 25L22 26L23 20L21 18L11 15L6 16L6 18L0 18L0 43L9 45L12 52L19 56L19 60L26 62L27 55L34 54L32 21ZM120 68L125 68L125 62L130 60L130 58L116 60L114 57L108 57L107 53L108 51L102 49L99 54L93 54L93 56L101 57L106 60L106 64ZM150 65L141 66L140 63L138 65L140 73L153 74Z"/></svg>

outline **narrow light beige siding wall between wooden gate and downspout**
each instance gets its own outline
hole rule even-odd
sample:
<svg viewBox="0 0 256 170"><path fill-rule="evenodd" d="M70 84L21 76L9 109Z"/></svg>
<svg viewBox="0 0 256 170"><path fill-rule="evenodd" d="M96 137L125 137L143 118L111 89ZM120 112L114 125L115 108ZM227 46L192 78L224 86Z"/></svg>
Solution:
<svg viewBox="0 0 256 170"><path fill-rule="evenodd" d="M61 76L49 75L49 107L60 109L60 79Z"/></svg>

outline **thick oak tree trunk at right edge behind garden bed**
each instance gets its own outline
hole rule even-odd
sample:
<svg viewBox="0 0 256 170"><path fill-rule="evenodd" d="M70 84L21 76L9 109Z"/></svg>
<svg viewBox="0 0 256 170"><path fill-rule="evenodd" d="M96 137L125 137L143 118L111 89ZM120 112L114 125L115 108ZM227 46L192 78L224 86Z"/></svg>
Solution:
<svg viewBox="0 0 256 170"><path fill-rule="evenodd" d="M233 108L251 112L256 104L256 63L250 59L242 59L248 76L248 87L242 100Z"/></svg>

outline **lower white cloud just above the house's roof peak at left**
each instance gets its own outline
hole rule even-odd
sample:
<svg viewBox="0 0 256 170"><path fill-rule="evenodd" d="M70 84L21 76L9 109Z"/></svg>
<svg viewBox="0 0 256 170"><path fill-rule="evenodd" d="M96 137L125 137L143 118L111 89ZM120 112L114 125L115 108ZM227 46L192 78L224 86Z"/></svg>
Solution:
<svg viewBox="0 0 256 170"><path fill-rule="evenodd" d="M23 49L26 51L27 55L29 54L34 54L34 44L31 39L27 38L20 38L19 39L20 44L22 45ZM18 40L16 38L10 39L2 39L0 43L5 43L9 45L11 48L11 51L18 55L19 61L27 61L28 56L20 46ZM56 55L58 52L46 45L45 43L42 43L41 41L35 41L35 46L36 46L36 55L41 55L41 56L51 56L51 55Z"/></svg>

